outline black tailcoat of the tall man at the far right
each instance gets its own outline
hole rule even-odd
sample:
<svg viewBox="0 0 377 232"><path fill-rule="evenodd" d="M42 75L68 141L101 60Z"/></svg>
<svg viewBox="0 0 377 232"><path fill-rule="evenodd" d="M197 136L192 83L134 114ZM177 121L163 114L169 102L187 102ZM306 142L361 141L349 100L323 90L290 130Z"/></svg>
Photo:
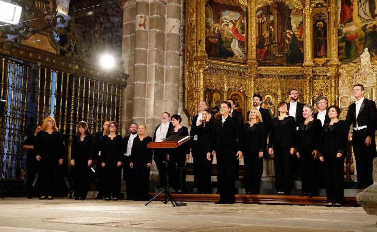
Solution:
<svg viewBox="0 0 377 232"><path fill-rule="evenodd" d="M371 136L374 140L375 136L375 129L376 129L376 105L375 102L369 99L364 99L360 106L359 115L356 118L356 104L352 103L348 106L346 123L347 126L353 125L356 127L356 120L357 125L360 126L367 126L367 135Z"/></svg>

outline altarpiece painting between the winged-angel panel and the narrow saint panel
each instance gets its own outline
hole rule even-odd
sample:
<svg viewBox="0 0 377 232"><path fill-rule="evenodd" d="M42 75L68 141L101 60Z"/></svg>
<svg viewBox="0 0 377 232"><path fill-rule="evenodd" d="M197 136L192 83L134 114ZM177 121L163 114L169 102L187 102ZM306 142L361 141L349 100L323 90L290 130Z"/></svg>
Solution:
<svg viewBox="0 0 377 232"><path fill-rule="evenodd" d="M271 3L257 9L256 16L258 64L302 65L302 2Z"/></svg>

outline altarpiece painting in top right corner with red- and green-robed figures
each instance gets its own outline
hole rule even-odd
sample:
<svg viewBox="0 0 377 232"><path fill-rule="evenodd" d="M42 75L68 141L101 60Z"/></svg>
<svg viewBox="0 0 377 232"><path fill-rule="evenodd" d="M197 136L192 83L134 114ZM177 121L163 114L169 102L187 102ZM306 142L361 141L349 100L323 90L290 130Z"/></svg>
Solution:
<svg viewBox="0 0 377 232"><path fill-rule="evenodd" d="M359 62L365 48L377 59L377 0L337 0L338 56L343 63Z"/></svg>

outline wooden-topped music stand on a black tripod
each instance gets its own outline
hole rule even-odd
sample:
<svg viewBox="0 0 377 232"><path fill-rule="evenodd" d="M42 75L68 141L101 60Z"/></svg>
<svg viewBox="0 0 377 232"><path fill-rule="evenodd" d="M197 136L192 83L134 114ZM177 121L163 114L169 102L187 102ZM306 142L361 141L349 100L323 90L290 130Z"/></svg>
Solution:
<svg viewBox="0 0 377 232"><path fill-rule="evenodd" d="M173 198L173 196L169 193L169 190L167 189L167 166L168 166L167 149L176 149L177 147L189 141L190 138L191 136L171 135L169 136L169 138L166 138L164 141L151 142L147 144L147 147L149 149L166 149L166 154L165 154L166 157L165 157L165 186L156 196L150 199L149 202L145 204L145 206L147 206L152 201L156 200L161 194L164 194L164 200L161 201L162 203L167 204L168 202L171 202L173 207L181 205L175 201L175 199Z"/></svg>

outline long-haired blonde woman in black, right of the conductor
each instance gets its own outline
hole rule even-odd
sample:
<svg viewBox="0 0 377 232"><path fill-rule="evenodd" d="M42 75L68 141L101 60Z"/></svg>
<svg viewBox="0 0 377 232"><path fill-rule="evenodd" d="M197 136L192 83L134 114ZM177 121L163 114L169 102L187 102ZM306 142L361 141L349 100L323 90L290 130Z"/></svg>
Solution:
<svg viewBox="0 0 377 232"><path fill-rule="evenodd" d="M258 109L252 108L244 124L245 193L258 194L263 173L263 154L266 149L266 127Z"/></svg>

